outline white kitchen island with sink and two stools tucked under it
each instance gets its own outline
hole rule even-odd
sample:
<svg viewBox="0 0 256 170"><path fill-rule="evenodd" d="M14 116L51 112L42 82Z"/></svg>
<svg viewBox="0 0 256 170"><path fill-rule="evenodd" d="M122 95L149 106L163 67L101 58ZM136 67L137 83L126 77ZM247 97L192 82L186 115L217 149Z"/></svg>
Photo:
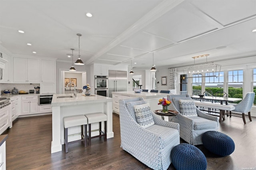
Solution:
<svg viewBox="0 0 256 170"><path fill-rule="evenodd" d="M107 137L114 137L112 129L112 98L100 95L84 96L78 93L76 97L68 97L70 94L54 94L52 97L52 146L51 153L62 150L64 144L64 125L63 117L72 115L85 115L88 113L102 112L107 115ZM60 98L59 98L60 97ZM102 126L102 130L104 123ZM92 124L92 130L98 129L98 123ZM68 128L68 142L78 140L80 127ZM92 132L92 136L98 135Z"/></svg>

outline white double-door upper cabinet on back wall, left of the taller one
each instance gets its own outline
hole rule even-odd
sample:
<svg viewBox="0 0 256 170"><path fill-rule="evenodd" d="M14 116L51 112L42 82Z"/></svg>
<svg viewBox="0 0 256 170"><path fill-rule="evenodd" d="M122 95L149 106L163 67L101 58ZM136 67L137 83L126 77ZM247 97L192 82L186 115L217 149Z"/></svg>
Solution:
<svg viewBox="0 0 256 170"><path fill-rule="evenodd" d="M40 83L40 60L14 57L13 82Z"/></svg>

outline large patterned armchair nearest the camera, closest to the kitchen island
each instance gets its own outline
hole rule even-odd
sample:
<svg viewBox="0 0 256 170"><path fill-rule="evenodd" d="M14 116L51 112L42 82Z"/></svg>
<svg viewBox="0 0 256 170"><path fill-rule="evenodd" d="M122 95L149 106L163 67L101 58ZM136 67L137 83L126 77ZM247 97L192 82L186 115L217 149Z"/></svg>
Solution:
<svg viewBox="0 0 256 170"><path fill-rule="evenodd" d="M154 125L143 128L136 122L134 105L145 103L142 97L119 101L121 147L148 167L166 170L172 148L180 144L179 124L152 114Z"/></svg>

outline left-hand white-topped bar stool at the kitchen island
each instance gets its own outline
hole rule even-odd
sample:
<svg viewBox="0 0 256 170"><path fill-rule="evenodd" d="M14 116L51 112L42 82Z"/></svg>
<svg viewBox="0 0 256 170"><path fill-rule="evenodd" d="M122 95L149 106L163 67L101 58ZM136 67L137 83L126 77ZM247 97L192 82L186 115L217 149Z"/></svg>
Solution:
<svg viewBox="0 0 256 170"><path fill-rule="evenodd" d="M84 147L87 146L87 138L84 135L84 131L87 132L87 118L84 115L68 116L63 118L64 122L64 139L65 139L65 151L68 153L68 144L84 141ZM81 126L81 139L68 142L68 128Z"/></svg>

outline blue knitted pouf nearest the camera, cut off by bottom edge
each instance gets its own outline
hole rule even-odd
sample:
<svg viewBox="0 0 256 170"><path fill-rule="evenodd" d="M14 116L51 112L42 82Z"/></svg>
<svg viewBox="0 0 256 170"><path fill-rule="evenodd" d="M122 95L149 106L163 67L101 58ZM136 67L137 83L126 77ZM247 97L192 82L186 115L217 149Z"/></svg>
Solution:
<svg viewBox="0 0 256 170"><path fill-rule="evenodd" d="M171 151L171 160L176 170L206 170L207 167L203 152L188 143L174 146Z"/></svg>

